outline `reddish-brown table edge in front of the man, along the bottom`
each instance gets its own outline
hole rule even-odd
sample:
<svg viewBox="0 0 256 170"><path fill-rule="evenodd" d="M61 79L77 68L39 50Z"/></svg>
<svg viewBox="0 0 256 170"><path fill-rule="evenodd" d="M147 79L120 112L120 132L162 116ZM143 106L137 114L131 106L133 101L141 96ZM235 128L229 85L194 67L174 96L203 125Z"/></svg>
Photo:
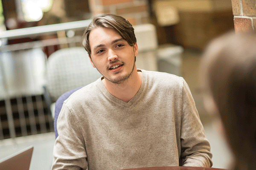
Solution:
<svg viewBox="0 0 256 170"><path fill-rule="evenodd" d="M221 168L213 167L141 167L141 168L131 168L125 170L224 170Z"/></svg>

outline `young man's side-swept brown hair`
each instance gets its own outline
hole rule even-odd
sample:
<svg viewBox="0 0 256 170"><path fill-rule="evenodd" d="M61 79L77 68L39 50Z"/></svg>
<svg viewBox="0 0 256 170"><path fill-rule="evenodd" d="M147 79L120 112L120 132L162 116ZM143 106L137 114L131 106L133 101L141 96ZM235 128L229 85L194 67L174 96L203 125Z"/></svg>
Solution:
<svg viewBox="0 0 256 170"><path fill-rule="evenodd" d="M134 28L128 20L114 14L99 14L92 18L92 22L85 29L83 35L83 46L88 52L89 56L91 54L89 42L90 31L99 27L114 29L131 46L133 46L137 41L134 34Z"/></svg>

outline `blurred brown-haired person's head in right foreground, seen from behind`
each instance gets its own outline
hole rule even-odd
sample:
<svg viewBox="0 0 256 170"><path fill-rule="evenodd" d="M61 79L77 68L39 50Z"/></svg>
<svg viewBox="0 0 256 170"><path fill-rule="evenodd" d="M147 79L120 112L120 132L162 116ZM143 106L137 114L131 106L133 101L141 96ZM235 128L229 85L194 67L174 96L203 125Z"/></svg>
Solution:
<svg viewBox="0 0 256 170"><path fill-rule="evenodd" d="M256 168L256 36L228 33L206 48L201 62L204 103L217 112L235 169Z"/></svg>

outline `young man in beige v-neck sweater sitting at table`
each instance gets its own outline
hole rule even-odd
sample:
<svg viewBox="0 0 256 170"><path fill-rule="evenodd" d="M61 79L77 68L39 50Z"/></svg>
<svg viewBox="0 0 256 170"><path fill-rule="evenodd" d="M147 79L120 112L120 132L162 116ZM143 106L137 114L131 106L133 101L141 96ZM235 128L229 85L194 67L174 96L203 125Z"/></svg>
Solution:
<svg viewBox="0 0 256 170"><path fill-rule="evenodd" d="M94 17L83 45L102 78L64 102L52 170L212 166L186 82L136 68L138 46L127 20Z"/></svg>

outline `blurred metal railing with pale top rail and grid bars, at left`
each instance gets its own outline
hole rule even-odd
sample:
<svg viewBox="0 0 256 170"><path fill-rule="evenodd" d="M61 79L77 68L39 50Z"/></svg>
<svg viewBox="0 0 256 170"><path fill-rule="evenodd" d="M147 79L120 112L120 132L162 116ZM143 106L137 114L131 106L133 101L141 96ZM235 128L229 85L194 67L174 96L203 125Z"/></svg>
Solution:
<svg viewBox="0 0 256 170"><path fill-rule="evenodd" d="M55 47L55 45L58 46L58 49L81 46L82 32L77 33L76 31L83 31L89 25L89 23L90 20L82 20L0 32L0 83L2 86L0 88L2 92L0 93L2 96L1 103L3 103L3 105L0 106L0 140L6 138L15 138L17 136L27 136L30 134L46 133L49 130L53 130L52 116L46 113L47 109L43 94L40 94L40 92L36 92L35 94L33 94L33 92L26 93L26 91L24 94L24 91L22 92L22 88L16 88L16 93L12 93L10 81L8 79L8 75L10 76L10 73L8 70L6 71L6 69L9 69L6 68L6 63L9 63L9 60L12 60L13 62L17 58L22 61L22 57L28 57L27 54L29 54L30 56L28 57L28 60L31 64L32 61L35 60L33 59L35 57L33 55L38 54L38 52L27 53L27 51L38 49L39 51L40 49L44 51L45 47ZM71 36L67 36L66 33L68 31L73 31L73 34ZM27 37L36 38L45 35L55 35L56 38L6 45L7 40L22 39ZM55 51L58 49L55 49ZM7 57L4 56L4 54L8 54ZM19 54L24 56L19 56ZM44 58L45 60L47 59L46 54L44 54ZM6 62L6 60L8 61ZM27 61L21 63L26 62ZM13 65L14 64L12 63L12 66ZM33 74L30 73L33 72L31 69L29 69L30 66L32 67L32 65L29 64L25 66L29 70L25 72L28 74ZM18 65L14 66L12 71L17 70L19 72L19 68L15 67L18 67ZM14 72L13 74L17 73ZM16 81L15 79L20 78L17 75L12 79L12 81ZM32 79L35 79L35 77L32 76ZM20 78L20 80L17 81L22 82L24 80ZM35 81L33 80L32 82ZM15 85L15 83L12 85ZM41 88L43 89L43 87Z"/></svg>

